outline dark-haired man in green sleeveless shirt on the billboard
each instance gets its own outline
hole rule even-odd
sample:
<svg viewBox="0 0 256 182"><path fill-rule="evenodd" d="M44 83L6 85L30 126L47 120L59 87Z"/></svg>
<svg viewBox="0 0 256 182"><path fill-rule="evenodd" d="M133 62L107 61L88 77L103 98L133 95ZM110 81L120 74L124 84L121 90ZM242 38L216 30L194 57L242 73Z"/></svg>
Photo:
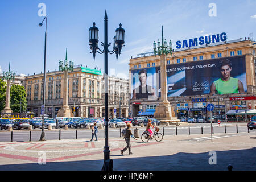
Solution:
<svg viewBox="0 0 256 182"><path fill-rule="evenodd" d="M238 78L231 77L232 63L228 59L223 59L219 63L221 78L214 81L210 86L210 95L228 94L228 93L245 93L243 83Z"/></svg>

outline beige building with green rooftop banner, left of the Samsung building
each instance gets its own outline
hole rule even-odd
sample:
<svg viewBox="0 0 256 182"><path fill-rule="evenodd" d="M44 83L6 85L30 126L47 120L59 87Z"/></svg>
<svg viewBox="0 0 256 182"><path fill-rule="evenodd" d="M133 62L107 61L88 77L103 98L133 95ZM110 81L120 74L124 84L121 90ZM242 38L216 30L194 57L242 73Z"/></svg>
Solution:
<svg viewBox="0 0 256 182"><path fill-rule="evenodd" d="M63 105L64 72L53 71L46 73L46 106L45 113L55 118L58 110ZM104 117L104 79L98 69L87 68L77 65L72 72L68 73L68 105L75 117ZM118 105L118 113L121 110L122 117L127 117L128 94L122 90L129 90L129 80L115 78L116 82L122 83L116 90L116 97L121 101ZM112 82L110 78L110 83ZM109 86L109 92L114 89ZM43 73L26 76L27 109L35 115L42 114L43 105ZM122 95L124 94L124 96ZM109 95L109 113L114 108L113 96ZM119 101L118 100L118 101ZM119 103L119 102L118 102Z"/></svg>

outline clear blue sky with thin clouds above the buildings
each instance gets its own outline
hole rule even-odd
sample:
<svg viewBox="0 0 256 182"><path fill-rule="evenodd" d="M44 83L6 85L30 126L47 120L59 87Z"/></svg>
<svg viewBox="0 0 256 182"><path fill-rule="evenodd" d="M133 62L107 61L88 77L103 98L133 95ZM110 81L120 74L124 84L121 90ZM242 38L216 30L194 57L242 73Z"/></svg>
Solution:
<svg viewBox="0 0 256 182"><path fill-rule="evenodd" d="M93 56L89 49L89 28L93 22L99 28L100 42L104 42L104 14L108 12L108 41L113 44L115 29L125 28L125 47L115 60L109 55L109 73L124 77L129 71L131 56L151 52L154 40L198 38L205 34L226 32L228 40L245 38L253 33L256 38L256 1L87 1L87 0L3 0L0 2L0 71L33 74L43 71L44 26L38 16L38 4L46 4L47 63L46 71L58 69L60 59L75 65L104 71L104 55ZM217 16L210 17L210 3L216 3ZM111 46L112 47L112 46ZM102 48L102 47L101 47ZM112 70L110 70L112 69Z"/></svg>

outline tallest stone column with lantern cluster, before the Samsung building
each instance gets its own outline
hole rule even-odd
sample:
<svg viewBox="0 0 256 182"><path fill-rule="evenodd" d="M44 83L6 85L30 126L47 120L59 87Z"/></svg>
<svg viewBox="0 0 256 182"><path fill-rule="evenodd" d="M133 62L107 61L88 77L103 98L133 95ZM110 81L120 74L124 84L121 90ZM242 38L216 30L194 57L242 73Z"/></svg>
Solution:
<svg viewBox="0 0 256 182"><path fill-rule="evenodd" d="M161 80L161 102L156 106L154 118L160 122L179 122L180 120L175 117L174 110L167 99L167 75L166 75L166 56L168 53L172 55L172 43L169 46L166 40L163 41L163 26L162 26L162 44L158 40L158 51L156 51L156 43L154 42L154 53L160 56L160 80Z"/></svg>

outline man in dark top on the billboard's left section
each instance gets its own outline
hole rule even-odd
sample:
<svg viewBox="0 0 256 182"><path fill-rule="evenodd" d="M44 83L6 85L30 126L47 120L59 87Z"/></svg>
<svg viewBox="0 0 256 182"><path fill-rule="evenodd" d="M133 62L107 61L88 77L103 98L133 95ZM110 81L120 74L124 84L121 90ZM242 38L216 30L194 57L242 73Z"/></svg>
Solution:
<svg viewBox="0 0 256 182"><path fill-rule="evenodd" d="M148 100L156 100L158 98L155 89L152 86L147 85L146 69L139 71L139 82L139 86L133 90L132 99L146 98Z"/></svg>

